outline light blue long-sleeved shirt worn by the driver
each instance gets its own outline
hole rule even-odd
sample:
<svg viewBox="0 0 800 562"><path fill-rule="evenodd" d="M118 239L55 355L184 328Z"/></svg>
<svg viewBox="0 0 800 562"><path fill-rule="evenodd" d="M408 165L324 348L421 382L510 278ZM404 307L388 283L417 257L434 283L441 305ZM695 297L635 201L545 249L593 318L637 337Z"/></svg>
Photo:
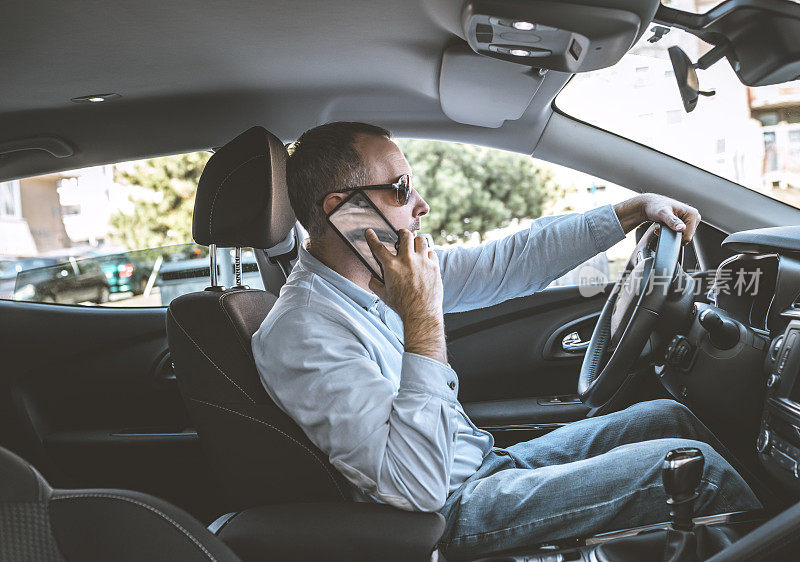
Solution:
<svg viewBox="0 0 800 562"><path fill-rule="evenodd" d="M624 235L608 205L437 249L444 312L531 294ZM464 413L453 369L405 352L400 317L304 247L252 343L275 403L373 500L437 511L494 444Z"/></svg>

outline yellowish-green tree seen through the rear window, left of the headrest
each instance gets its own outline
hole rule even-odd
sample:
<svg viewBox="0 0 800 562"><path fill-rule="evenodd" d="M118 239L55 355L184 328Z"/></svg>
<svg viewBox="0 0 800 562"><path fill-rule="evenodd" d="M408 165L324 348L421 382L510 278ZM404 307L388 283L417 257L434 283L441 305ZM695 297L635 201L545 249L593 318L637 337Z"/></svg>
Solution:
<svg viewBox="0 0 800 562"><path fill-rule="evenodd" d="M131 197L130 213L111 217L115 238L130 250L191 242L194 195L209 156L193 152L143 160L131 169L117 167L118 183L147 191Z"/></svg>

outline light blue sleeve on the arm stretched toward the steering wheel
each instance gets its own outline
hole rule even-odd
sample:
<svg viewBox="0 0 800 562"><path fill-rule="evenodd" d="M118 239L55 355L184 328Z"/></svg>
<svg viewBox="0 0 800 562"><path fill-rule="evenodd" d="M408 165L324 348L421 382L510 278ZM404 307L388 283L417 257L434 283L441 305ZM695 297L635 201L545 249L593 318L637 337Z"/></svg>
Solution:
<svg viewBox="0 0 800 562"><path fill-rule="evenodd" d="M611 205L543 217L528 229L473 248L437 249L444 312L483 308L534 293L622 240Z"/></svg>

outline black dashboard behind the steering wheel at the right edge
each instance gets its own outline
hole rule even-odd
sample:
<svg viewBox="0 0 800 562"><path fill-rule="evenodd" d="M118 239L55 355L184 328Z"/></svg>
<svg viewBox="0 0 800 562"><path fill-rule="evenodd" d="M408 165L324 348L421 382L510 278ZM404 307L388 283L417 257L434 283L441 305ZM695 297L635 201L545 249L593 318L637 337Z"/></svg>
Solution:
<svg viewBox="0 0 800 562"><path fill-rule="evenodd" d="M739 459L800 496L800 227L738 232L722 246L735 254L656 372Z"/></svg>

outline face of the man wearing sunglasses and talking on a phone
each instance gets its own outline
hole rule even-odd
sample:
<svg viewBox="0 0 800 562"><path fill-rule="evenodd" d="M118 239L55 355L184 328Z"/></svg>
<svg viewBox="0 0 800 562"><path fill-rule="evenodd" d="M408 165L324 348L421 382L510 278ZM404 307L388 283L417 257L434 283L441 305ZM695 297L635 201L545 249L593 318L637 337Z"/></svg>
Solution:
<svg viewBox="0 0 800 562"><path fill-rule="evenodd" d="M394 183L403 174L411 174L411 166L403 156L403 151L386 137L364 135L356 142L356 149L369 170L371 185ZM398 230L401 228L407 228L412 232L419 230L420 218L430 211L430 207L416 189L411 190L408 203L402 207L397 205L397 196L393 189L370 190L364 193Z"/></svg>

